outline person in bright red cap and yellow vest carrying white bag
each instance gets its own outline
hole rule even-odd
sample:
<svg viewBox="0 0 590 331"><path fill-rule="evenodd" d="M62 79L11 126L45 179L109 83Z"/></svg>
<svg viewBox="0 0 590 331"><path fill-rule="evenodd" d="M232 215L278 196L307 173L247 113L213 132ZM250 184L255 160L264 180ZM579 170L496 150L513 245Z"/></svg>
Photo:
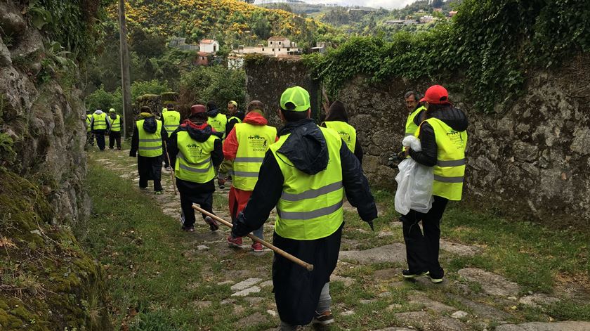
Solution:
<svg viewBox="0 0 590 331"><path fill-rule="evenodd" d="M438 261L440 219L449 200L461 200L467 117L454 108L447 90L440 85L428 88L420 102L424 102L426 108L426 119L417 130L422 150L407 149L406 155L419 164L434 168L434 200L428 213L410 210L401 217L408 265L402 275L404 278L428 275L433 283L442 283L445 271ZM418 226L419 221L422 221L424 233Z"/></svg>

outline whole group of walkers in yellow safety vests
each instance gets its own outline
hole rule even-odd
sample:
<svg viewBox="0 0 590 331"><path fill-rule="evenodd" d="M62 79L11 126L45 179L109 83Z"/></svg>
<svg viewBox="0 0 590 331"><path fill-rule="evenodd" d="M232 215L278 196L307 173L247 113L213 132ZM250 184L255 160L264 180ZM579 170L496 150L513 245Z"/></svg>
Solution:
<svg viewBox="0 0 590 331"><path fill-rule="evenodd" d="M278 254L273 260L280 330L296 330L297 325L334 321L329 278L339 256L345 193L370 228L377 209L362 171L358 135L348 124L343 103L332 103L318 126L311 118L305 89L286 89L278 101L284 123L279 130L268 125L265 105L258 100L251 101L245 112L230 101L228 115L212 102L192 105L183 122L171 105L162 119L142 108L129 155L138 157L140 188L153 180L156 194L162 193L162 162L173 169L183 231L194 231L192 204L213 214L215 179L220 187L231 180L228 209L233 227L227 242L232 247L241 247L242 237L249 233L263 238L263 224L276 207L273 244L315 266L308 271ZM442 86L431 86L424 98L410 91L405 101L409 110L405 134L417 136L422 150L404 148L398 156L433 167L434 202L427 213L410 210L400 217L408 263L402 276L429 276L440 283L444 276L438 261L440 219L448 200L461 199L467 119L449 102ZM100 112L92 116L93 131L113 126ZM211 231L218 229L214 219L202 216ZM263 251L259 242L251 249Z"/></svg>

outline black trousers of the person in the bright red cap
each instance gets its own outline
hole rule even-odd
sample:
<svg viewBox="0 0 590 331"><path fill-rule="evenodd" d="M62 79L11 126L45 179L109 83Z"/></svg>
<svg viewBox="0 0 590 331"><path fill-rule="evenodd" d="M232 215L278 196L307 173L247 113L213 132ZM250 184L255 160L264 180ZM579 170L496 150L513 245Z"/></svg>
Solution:
<svg viewBox="0 0 590 331"><path fill-rule="evenodd" d="M428 213L423 214L410 210L409 213L401 217L407 266L410 272L429 271L433 278L442 278L445 275L445 271L438 262L438 250L440 246L440 219L445 212L447 202L449 200L445 197L434 195L434 202ZM420 230L419 221L422 221L424 233Z"/></svg>

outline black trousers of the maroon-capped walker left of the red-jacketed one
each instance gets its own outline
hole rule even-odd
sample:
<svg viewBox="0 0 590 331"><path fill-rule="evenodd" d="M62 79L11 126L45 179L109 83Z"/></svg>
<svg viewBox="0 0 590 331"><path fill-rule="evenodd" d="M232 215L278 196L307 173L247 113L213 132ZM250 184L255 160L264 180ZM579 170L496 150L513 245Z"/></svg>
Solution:
<svg viewBox="0 0 590 331"><path fill-rule="evenodd" d="M182 179L176 178L176 188L178 193L181 194L181 209L183 227L190 228L195 225L195 209L192 209L192 204L199 205L202 209L207 212L214 214L213 212L213 193L215 186L213 181L211 185L197 184L190 181L183 181ZM199 190L200 189L200 190ZM203 214L203 219L205 215Z"/></svg>

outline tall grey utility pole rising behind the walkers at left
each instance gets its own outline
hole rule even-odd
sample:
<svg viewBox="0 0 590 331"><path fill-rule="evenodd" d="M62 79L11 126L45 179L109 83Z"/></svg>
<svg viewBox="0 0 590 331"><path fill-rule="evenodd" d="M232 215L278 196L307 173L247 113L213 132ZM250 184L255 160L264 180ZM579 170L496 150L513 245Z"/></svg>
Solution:
<svg viewBox="0 0 590 331"><path fill-rule="evenodd" d="M121 54L121 85L123 90L123 136L129 138L133 133L133 109L131 109L131 79L129 77L129 48L127 47L127 27L125 25L125 0L119 0L119 39Z"/></svg>

